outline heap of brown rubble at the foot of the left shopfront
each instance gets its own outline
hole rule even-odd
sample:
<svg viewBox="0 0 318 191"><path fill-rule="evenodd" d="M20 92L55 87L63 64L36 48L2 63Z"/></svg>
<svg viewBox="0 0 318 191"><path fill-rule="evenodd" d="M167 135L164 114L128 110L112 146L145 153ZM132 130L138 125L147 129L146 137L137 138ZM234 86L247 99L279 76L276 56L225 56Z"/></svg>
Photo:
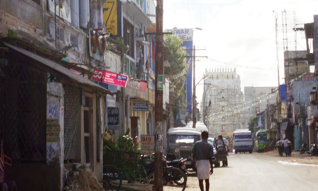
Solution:
<svg viewBox="0 0 318 191"><path fill-rule="evenodd" d="M67 175L65 191L103 191L92 169L84 164L75 164Z"/></svg>

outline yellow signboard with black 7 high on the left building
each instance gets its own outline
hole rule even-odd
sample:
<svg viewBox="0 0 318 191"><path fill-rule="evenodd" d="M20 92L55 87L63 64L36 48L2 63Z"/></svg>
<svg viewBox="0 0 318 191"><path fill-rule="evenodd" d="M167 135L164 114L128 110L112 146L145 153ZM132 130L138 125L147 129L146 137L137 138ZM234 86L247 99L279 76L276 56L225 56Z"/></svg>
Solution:
<svg viewBox="0 0 318 191"><path fill-rule="evenodd" d="M103 23L106 32L117 35L117 0L106 0L103 4Z"/></svg>

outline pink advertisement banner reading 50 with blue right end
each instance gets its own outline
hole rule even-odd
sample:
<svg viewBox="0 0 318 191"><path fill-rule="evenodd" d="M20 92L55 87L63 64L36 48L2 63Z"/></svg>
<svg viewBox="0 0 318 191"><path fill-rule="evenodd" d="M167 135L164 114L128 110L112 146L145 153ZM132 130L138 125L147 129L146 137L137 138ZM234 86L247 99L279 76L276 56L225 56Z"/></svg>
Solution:
<svg viewBox="0 0 318 191"><path fill-rule="evenodd" d="M94 69L92 80L108 83L116 86L126 87L128 81L128 75L116 74L105 70Z"/></svg>

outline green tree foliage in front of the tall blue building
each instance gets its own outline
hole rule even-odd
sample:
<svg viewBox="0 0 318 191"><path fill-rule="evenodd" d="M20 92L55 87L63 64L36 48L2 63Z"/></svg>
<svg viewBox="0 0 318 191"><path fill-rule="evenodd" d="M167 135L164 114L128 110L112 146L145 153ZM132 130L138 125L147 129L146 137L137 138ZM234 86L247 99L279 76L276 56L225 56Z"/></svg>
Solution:
<svg viewBox="0 0 318 191"><path fill-rule="evenodd" d="M170 55L164 55L164 60L168 60L170 67L164 68L164 75L171 81L169 103L172 107L174 119L176 119L179 110L186 108L185 76L180 75L180 73L187 70L186 56L189 56L189 54L182 50L183 42L177 36L165 35L165 39L165 45L168 46Z"/></svg>

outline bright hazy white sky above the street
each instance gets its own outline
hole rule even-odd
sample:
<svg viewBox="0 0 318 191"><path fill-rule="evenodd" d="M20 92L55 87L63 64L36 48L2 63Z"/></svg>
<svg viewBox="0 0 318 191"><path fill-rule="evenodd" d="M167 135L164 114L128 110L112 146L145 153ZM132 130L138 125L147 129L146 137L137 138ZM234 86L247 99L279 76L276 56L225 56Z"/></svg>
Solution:
<svg viewBox="0 0 318 191"><path fill-rule="evenodd" d="M278 86L276 59L275 12L287 11L287 23L311 23L318 14L317 0L164 0L163 28L194 29L194 44L200 58L196 62L196 81L205 68L236 67L244 86ZM292 26L290 25L290 26ZM303 27L303 25L297 25ZM290 31L292 27L287 27ZM289 32L289 50L294 45L294 32ZM282 38L279 39L282 42ZM297 34L297 50L305 50L304 35ZM280 56L283 55L282 46ZM280 81L283 82L283 66ZM197 86L197 101L202 99L203 85Z"/></svg>

